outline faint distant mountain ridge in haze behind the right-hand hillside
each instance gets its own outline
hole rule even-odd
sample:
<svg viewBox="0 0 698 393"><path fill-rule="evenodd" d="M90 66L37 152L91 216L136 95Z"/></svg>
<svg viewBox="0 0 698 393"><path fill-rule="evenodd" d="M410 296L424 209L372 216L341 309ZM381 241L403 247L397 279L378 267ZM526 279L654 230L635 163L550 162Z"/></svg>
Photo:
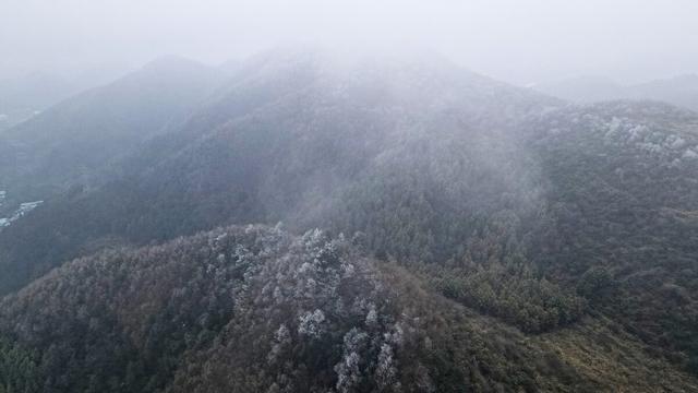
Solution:
<svg viewBox="0 0 698 393"><path fill-rule="evenodd" d="M698 75L686 74L635 85L610 79L582 76L533 86L538 92L571 102L654 99L698 111Z"/></svg>

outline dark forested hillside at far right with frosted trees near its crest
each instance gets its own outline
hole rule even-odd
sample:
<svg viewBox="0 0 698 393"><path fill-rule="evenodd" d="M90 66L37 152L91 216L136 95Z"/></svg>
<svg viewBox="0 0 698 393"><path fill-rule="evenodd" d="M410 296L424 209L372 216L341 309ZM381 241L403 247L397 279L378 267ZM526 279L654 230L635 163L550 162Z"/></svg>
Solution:
<svg viewBox="0 0 698 393"><path fill-rule="evenodd" d="M698 372L698 116L616 102L570 108L534 128L544 134L535 144L552 182L557 242L552 259L540 253L541 265Z"/></svg>

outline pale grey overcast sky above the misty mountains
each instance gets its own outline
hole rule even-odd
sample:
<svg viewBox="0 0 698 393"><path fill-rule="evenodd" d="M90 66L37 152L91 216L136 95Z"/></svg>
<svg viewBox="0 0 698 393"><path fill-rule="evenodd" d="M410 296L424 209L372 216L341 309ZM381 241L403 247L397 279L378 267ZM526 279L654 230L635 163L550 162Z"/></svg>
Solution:
<svg viewBox="0 0 698 393"><path fill-rule="evenodd" d="M168 53L217 63L288 40L431 46L518 84L637 82L698 72L698 0L0 0L0 76Z"/></svg>

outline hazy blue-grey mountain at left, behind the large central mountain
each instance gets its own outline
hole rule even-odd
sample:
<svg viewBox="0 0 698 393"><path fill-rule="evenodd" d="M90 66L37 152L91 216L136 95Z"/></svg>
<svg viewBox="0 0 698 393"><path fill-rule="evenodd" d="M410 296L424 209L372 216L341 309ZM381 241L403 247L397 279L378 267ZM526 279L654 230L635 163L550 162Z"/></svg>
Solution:
<svg viewBox="0 0 698 393"><path fill-rule="evenodd" d="M182 121L219 73L169 57L67 99L0 133L0 189L15 203L47 199Z"/></svg>

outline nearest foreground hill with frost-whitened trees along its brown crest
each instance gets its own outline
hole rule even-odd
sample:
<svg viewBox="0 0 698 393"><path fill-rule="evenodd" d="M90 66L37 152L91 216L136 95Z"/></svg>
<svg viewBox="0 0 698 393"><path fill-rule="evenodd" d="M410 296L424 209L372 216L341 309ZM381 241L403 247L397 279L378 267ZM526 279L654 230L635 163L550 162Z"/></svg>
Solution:
<svg viewBox="0 0 698 393"><path fill-rule="evenodd" d="M24 392L599 392L623 385L422 288L341 236L230 227L73 261L5 298L0 386ZM592 326L603 330L603 326ZM577 337L575 331L561 335ZM696 381L663 372L637 392ZM593 348L593 347L592 347ZM604 348L586 354L593 360ZM16 361L13 361L16 360ZM12 367L24 365L24 367ZM574 365L574 366L573 366ZM580 372L582 371L582 372Z"/></svg>

